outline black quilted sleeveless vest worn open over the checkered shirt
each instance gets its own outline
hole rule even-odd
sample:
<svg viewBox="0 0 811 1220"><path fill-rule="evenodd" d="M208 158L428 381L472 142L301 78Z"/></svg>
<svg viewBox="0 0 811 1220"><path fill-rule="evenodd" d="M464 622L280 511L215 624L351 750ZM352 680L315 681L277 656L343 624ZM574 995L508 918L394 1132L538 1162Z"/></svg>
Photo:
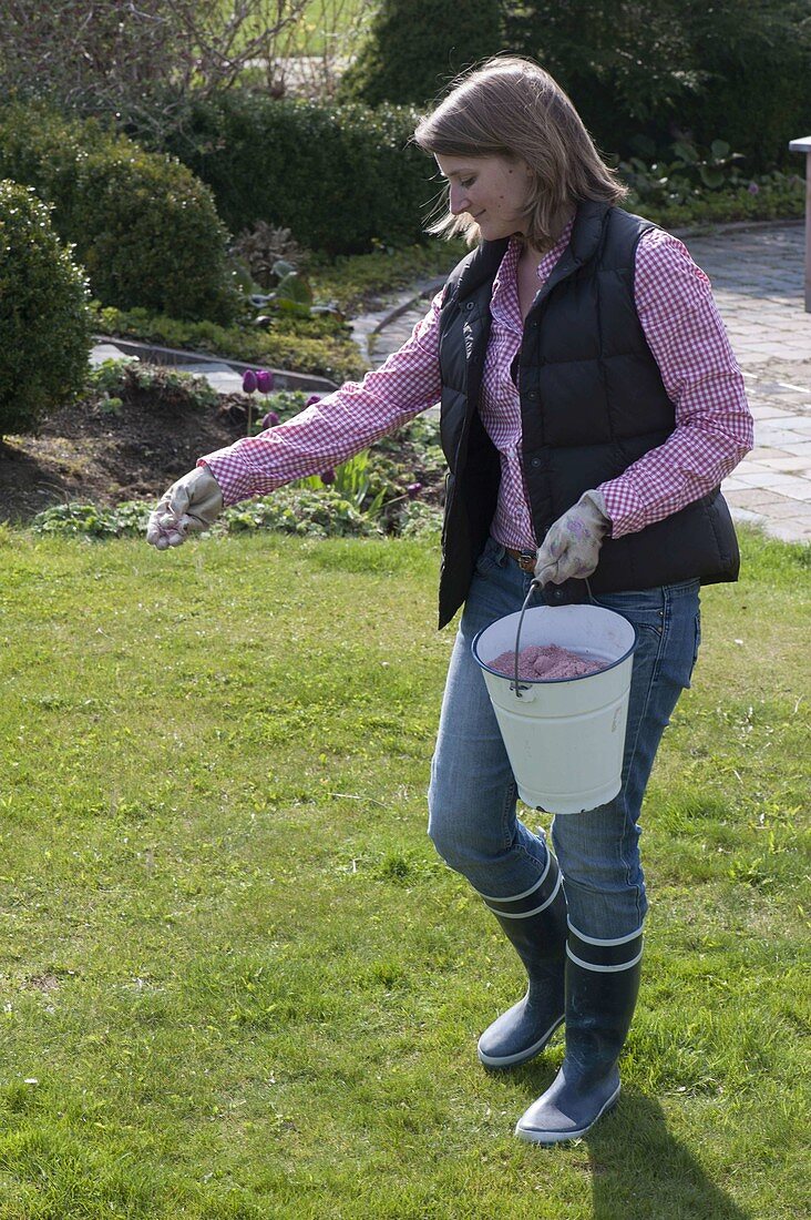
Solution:
<svg viewBox="0 0 811 1220"><path fill-rule="evenodd" d="M535 537L589 488L616 478L674 428L674 409L634 304L634 256L648 221L606 204L578 209L570 245L527 316L520 354L523 471ZM484 242L448 279L441 320L441 444L449 465L439 626L467 597L499 490L498 451L478 400L493 281L507 242ZM638 533L606 539L594 593L700 578L734 581L739 555L716 488ZM560 586L582 600L582 581Z"/></svg>

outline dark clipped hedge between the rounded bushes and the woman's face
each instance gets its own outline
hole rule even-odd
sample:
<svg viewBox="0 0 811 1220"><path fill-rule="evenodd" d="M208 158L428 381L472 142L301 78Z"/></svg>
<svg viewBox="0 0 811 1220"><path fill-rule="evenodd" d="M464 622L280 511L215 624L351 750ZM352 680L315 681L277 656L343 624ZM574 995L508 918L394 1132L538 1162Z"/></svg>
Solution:
<svg viewBox="0 0 811 1220"><path fill-rule="evenodd" d="M409 144L406 106L329 106L239 92L190 109L171 142L234 233L257 220L329 256L423 237L433 161Z"/></svg>

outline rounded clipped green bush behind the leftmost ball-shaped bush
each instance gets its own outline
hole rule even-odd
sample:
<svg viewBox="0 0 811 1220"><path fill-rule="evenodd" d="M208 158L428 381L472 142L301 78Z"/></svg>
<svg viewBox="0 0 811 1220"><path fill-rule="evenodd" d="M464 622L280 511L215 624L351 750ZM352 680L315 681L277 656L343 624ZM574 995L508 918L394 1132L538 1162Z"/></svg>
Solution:
<svg viewBox="0 0 811 1220"><path fill-rule="evenodd" d="M120 309L230 321L238 298L228 234L211 192L187 166L99 122L40 106L0 110L0 177L54 205L95 296Z"/></svg>

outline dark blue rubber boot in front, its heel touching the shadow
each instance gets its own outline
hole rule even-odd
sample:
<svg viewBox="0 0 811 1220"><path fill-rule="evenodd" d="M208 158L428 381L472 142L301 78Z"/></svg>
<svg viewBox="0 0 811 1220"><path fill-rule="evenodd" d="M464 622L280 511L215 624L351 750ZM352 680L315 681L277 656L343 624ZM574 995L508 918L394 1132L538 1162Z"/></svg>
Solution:
<svg viewBox="0 0 811 1220"><path fill-rule="evenodd" d="M595 941L570 925L566 1055L550 1087L518 1120L520 1139L577 1139L615 1105L617 1060L637 1005L640 961L641 928L618 941Z"/></svg>

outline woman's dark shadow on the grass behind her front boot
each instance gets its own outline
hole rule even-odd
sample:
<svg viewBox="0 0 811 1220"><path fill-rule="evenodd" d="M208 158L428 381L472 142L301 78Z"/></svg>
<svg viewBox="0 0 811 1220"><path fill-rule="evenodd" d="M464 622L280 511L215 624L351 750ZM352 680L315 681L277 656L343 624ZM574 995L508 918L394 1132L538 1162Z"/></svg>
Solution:
<svg viewBox="0 0 811 1220"><path fill-rule="evenodd" d="M657 1102L633 1089L585 1136L594 1220L751 1220L667 1130Z"/></svg>

